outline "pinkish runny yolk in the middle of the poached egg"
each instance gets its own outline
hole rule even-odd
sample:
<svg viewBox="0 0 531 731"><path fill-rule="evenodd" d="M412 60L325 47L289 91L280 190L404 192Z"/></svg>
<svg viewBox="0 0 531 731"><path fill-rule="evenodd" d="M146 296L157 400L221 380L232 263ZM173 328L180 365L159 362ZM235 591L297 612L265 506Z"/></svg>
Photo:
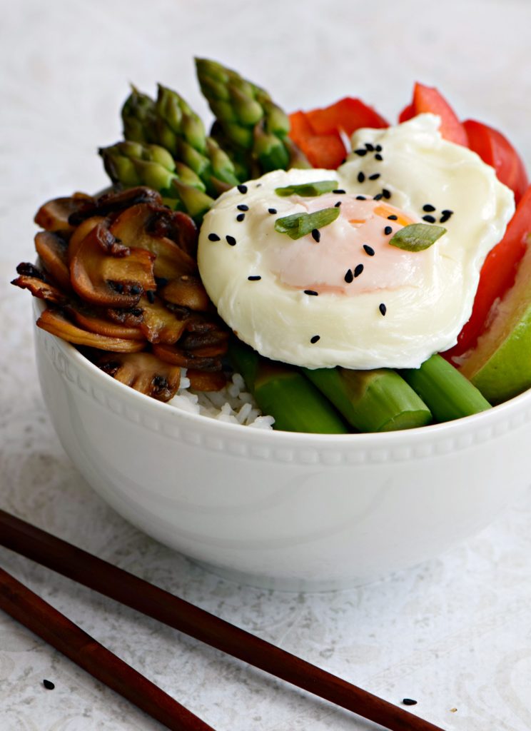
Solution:
<svg viewBox="0 0 531 731"><path fill-rule="evenodd" d="M293 202L308 213L340 202L340 214L320 230L318 240L312 235L296 240L286 236L267 248L264 264L288 287L356 296L413 284L428 265L427 257L389 243L401 228L421 222L400 208L348 194L297 197Z"/></svg>

